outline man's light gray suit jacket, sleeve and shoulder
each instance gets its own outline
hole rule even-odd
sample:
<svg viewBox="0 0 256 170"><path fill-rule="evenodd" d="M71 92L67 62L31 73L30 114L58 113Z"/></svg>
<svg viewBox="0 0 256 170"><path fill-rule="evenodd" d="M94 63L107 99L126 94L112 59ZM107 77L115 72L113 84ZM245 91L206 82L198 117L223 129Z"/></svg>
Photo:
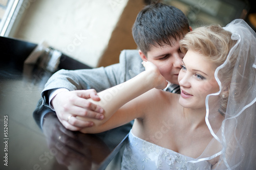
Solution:
<svg viewBox="0 0 256 170"><path fill-rule="evenodd" d="M49 107L48 91L52 89L95 89L99 92L123 83L145 70L141 62L138 50L123 50L117 64L93 69L61 69L53 74L41 92L44 105Z"/></svg>

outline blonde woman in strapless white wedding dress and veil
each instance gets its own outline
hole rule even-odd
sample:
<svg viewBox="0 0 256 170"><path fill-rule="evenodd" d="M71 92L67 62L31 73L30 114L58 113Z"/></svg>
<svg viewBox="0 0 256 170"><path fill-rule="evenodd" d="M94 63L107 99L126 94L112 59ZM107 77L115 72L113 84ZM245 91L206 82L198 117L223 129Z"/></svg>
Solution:
<svg viewBox="0 0 256 170"><path fill-rule="evenodd" d="M122 169L255 168L256 35L243 20L195 29L180 41L186 53L181 94L165 92L157 67L98 95L105 118L83 133L135 119ZM80 117L82 118L82 117ZM253 125L254 124L254 125Z"/></svg>

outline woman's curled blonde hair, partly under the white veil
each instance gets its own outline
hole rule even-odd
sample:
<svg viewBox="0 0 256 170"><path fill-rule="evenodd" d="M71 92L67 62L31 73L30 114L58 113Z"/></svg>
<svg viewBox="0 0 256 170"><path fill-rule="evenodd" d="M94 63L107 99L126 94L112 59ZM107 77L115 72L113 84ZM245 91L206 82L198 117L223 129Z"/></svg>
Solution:
<svg viewBox="0 0 256 170"><path fill-rule="evenodd" d="M185 37L180 40L181 52L186 53L188 50L198 52L218 67L225 62L229 51L237 42L237 40L231 39L231 35L231 32L224 30L220 25L197 28L187 33ZM233 54L234 55L229 59L229 63L218 75L223 87L220 93L220 105L223 112L226 111L233 67L237 59L237 56L235 56L236 53Z"/></svg>

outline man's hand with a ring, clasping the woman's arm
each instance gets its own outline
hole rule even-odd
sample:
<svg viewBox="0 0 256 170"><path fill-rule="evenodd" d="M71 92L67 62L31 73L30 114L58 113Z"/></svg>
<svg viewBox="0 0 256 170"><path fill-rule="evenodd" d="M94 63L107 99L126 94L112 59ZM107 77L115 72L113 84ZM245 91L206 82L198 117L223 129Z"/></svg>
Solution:
<svg viewBox="0 0 256 170"><path fill-rule="evenodd" d="M54 96L51 101L61 124L69 130L79 131L82 128L93 126L93 122L77 119L76 116L103 119L104 110L89 102L100 101L97 92L90 90L62 91Z"/></svg>

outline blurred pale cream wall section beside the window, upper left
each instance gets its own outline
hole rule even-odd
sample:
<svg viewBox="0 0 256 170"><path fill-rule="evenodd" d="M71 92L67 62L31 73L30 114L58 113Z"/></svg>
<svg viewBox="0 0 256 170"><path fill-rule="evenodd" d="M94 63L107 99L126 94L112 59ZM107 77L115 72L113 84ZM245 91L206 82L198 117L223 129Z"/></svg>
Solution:
<svg viewBox="0 0 256 170"><path fill-rule="evenodd" d="M14 38L50 46L97 66L128 0L32 0Z"/></svg>

